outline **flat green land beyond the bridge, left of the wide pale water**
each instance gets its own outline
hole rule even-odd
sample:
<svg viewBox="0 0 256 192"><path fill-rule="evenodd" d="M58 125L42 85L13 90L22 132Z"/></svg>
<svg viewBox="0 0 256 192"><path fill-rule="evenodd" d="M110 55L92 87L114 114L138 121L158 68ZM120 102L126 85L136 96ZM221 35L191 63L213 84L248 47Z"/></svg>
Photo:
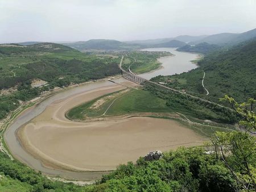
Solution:
<svg viewBox="0 0 256 192"><path fill-rule="evenodd" d="M164 51L134 51L126 52L122 68L133 73L146 73L158 69L161 65L157 60L159 57L170 56L170 52Z"/></svg>

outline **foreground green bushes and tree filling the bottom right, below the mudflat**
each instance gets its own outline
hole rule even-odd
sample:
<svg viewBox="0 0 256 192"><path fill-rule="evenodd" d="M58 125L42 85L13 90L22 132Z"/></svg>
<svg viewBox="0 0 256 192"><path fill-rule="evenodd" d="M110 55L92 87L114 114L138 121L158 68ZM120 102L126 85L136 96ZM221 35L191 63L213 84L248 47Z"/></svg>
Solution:
<svg viewBox="0 0 256 192"><path fill-rule="evenodd" d="M179 148L156 161L139 158L102 177L106 191L256 191L256 139L254 105L249 99L234 105L245 131L216 132L204 147ZM247 107L249 106L249 108Z"/></svg>

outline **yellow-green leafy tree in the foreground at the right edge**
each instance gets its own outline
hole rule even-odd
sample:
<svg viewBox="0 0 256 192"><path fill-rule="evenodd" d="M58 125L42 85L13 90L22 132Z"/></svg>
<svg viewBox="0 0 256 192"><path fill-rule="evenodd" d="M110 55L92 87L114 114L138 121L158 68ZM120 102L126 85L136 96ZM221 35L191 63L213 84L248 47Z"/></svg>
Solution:
<svg viewBox="0 0 256 192"><path fill-rule="evenodd" d="M236 180L238 188L256 191L255 99L237 103L227 95L221 101L229 102L240 117L240 131L216 132L212 137L216 158L220 157ZM250 133L250 134L249 134Z"/></svg>

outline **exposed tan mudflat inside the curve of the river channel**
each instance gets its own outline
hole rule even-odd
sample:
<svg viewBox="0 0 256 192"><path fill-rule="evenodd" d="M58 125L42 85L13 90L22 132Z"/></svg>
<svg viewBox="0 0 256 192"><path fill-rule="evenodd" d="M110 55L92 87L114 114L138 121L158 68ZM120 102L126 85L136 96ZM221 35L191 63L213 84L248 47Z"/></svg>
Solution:
<svg viewBox="0 0 256 192"><path fill-rule="evenodd" d="M134 86L132 83L126 83ZM65 112L101 95L126 89L113 85L53 102L18 131L23 147L51 168L113 170L152 150L201 145L205 138L175 120L148 117L73 122Z"/></svg>

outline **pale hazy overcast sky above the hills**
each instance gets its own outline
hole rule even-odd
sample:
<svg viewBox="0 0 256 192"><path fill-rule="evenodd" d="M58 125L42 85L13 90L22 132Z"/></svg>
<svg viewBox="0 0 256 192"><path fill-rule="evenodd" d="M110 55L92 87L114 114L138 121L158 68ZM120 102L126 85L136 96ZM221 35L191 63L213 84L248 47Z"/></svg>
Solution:
<svg viewBox="0 0 256 192"><path fill-rule="evenodd" d="M0 0L0 43L240 33L256 0Z"/></svg>

